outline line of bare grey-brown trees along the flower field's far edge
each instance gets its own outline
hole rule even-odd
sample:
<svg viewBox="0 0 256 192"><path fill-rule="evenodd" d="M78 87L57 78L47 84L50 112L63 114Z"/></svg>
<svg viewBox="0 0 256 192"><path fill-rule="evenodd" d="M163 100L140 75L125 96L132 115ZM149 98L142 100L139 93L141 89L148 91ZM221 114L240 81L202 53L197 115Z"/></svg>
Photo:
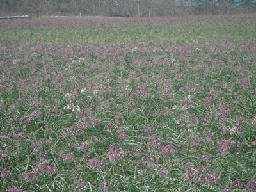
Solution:
<svg viewBox="0 0 256 192"><path fill-rule="evenodd" d="M160 17L255 12L256 0L0 0L0 16Z"/></svg>

